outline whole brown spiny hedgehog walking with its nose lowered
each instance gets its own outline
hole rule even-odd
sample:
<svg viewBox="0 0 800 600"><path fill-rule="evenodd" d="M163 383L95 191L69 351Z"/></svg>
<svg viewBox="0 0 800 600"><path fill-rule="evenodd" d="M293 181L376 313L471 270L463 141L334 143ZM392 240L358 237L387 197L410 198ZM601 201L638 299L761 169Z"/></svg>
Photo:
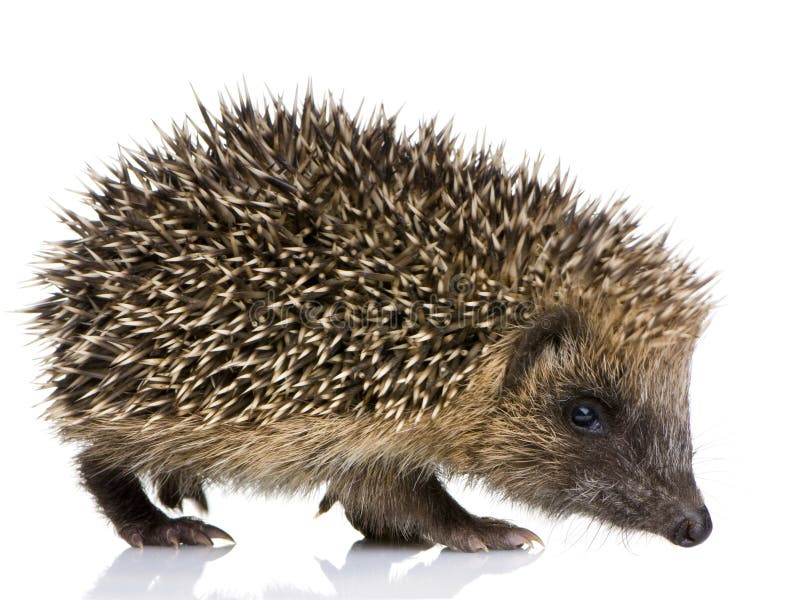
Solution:
<svg viewBox="0 0 800 600"><path fill-rule="evenodd" d="M133 545L210 544L170 518L203 485L340 501L371 537L461 550L537 539L475 517L452 474L555 514L689 546L689 362L707 280L620 203L539 164L398 135L331 99L248 98L92 173L92 218L46 252L32 310L48 416Z"/></svg>

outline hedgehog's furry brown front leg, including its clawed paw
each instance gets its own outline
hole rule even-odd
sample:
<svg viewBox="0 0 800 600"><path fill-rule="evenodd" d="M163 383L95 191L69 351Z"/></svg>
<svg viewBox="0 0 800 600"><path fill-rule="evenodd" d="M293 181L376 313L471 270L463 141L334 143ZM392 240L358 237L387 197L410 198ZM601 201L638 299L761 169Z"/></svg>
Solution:
<svg viewBox="0 0 800 600"><path fill-rule="evenodd" d="M329 485L320 513L337 501L353 527L371 539L432 542L464 552L544 545L532 531L470 514L428 472L350 473Z"/></svg>

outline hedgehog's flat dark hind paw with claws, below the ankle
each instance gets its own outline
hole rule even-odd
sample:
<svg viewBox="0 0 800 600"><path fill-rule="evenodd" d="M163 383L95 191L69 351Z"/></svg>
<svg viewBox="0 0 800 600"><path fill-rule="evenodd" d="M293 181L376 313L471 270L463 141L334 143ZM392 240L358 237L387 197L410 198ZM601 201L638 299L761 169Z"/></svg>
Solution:
<svg viewBox="0 0 800 600"><path fill-rule="evenodd" d="M164 518L155 523L139 523L123 527L120 536L135 548L143 546L213 546L212 539L234 542L219 527L207 525L200 519L179 517Z"/></svg>

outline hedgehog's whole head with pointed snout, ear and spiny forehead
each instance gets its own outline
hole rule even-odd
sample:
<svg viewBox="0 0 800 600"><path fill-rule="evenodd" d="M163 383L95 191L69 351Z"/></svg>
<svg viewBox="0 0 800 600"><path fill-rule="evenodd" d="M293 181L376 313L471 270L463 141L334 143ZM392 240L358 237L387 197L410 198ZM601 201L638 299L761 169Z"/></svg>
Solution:
<svg viewBox="0 0 800 600"><path fill-rule="evenodd" d="M551 281L537 314L500 343L492 431L502 439L487 451L488 479L554 515L694 546L711 532L692 470L688 400L707 281L667 254L649 265L637 256L638 268L616 279L603 272L630 264L628 252L638 250L571 278L551 268L571 285Z"/></svg>

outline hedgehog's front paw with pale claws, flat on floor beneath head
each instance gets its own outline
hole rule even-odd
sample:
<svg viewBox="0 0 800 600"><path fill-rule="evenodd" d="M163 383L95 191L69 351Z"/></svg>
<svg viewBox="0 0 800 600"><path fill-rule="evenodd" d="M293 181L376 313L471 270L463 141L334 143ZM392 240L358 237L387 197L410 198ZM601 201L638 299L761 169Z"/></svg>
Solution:
<svg viewBox="0 0 800 600"><path fill-rule="evenodd" d="M453 525L435 538L434 541L461 552L513 550L530 547L533 542L544 547L542 539L532 531L490 517L475 517L469 523Z"/></svg>

